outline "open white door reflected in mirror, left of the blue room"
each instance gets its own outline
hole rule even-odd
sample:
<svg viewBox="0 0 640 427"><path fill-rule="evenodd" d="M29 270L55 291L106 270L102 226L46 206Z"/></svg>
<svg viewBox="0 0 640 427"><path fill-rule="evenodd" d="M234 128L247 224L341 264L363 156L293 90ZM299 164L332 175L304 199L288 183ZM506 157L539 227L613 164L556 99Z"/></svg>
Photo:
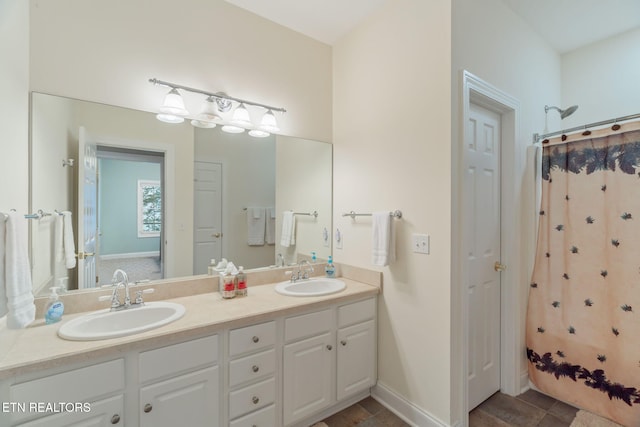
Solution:
<svg viewBox="0 0 640 427"><path fill-rule="evenodd" d="M85 289L96 286L98 157L84 127L78 133L78 156L78 289Z"/></svg>

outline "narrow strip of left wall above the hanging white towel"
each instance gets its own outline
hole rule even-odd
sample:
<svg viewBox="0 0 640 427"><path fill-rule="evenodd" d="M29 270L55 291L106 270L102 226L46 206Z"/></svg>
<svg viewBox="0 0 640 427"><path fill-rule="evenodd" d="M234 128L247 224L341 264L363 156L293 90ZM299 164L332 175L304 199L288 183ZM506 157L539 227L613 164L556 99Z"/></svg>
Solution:
<svg viewBox="0 0 640 427"><path fill-rule="evenodd" d="M0 0L0 212L29 209L29 5Z"/></svg>

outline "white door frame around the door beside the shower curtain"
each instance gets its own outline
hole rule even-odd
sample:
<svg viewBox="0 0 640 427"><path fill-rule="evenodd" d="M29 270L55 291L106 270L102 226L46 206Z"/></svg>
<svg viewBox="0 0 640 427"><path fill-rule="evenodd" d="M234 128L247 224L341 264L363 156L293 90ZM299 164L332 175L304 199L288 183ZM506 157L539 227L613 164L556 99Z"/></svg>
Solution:
<svg viewBox="0 0 640 427"><path fill-rule="evenodd" d="M469 120L469 105L474 103L494 111L501 116L501 224L500 224L500 244L501 263L508 266L502 272L501 292L500 292L500 390L510 395L517 395L521 391L520 343L523 342L523 331L520 325L521 298L520 298L520 270L521 262L518 258L518 235L520 222L518 214L520 212L518 204L518 180L516 172L521 170L521 161L518 156L516 146L519 135L520 102L507 93L490 85L479 77L466 70L460 73L459 91L459 121L458 121L458 141L457 156L453 156L458 162L458 167L454 167L453 187L457 196L453 198L457 206L453 206L453 283L456 283L456 298L460 307L461 322L459 330L462 331L462 366L459 381L462 390L462 416L463 425L468 425L468 381L469 372L469 328L468 328L468 294L466 292L466 282L468 271L466 266L466 256L463 253L464 238L464 184L459 177L461 165L464 164L464 144L467 139L467 126ZM514 215L515 213L515 215ZM455 310L453 310L455 313ZM454 325L457 322L454 322Z"/></svg>

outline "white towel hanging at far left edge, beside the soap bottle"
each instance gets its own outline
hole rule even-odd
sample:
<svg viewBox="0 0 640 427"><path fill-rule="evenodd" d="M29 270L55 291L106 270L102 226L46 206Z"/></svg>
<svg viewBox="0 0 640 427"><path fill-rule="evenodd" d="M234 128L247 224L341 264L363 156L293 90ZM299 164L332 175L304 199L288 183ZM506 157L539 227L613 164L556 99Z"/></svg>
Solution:
<svg viewBox="0 0 640 427"><path fill-rule="evenodd" d="M28 326L35 319L36 306L33 303L31 270L27 250L26 220L17 212L10 212L4 224L0 246L4 257L4 285L0 286L4 295L0 304L0 314L7 314L7 327L19 329ZM0 283L2 284L2 283Z"/></svg>

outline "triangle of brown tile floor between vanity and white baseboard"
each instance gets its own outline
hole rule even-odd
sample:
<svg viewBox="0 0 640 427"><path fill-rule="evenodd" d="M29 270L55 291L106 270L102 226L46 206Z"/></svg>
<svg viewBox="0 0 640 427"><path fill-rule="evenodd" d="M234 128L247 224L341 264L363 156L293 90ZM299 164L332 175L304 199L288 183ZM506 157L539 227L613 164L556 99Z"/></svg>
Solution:
<svg viewBox="0 0 640 427"><path fill-rule="evenodd" d="M362 399L323 422L328 427L409 427L372 397Z"/></svg>

